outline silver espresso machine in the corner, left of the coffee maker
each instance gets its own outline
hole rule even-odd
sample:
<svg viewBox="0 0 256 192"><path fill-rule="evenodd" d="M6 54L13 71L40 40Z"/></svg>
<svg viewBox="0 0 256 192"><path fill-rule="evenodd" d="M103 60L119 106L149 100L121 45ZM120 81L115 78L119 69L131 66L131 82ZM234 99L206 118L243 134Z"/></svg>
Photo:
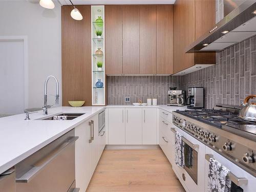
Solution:
<svg viewBox="0 0 256 192"><path fill-rule="evenodd" d="M167 106L185 105L185 91L176 89L177 87L170 87L167 95Z"/></svg>

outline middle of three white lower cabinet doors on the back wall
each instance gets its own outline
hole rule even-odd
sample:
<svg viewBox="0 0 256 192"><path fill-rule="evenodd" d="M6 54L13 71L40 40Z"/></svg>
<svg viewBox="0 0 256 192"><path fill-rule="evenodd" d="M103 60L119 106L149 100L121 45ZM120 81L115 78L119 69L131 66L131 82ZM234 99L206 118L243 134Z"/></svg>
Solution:
<svg viewBox="0 0 256 192"><path fill-rule="evenodd" d="M125 109L125 144L142 144L142 109Z"/></svg>

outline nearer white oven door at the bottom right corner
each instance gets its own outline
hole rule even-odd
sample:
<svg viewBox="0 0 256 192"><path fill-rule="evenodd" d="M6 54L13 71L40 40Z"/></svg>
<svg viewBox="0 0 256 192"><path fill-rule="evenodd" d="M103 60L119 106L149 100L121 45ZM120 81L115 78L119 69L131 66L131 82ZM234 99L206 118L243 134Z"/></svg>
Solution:
<svg viewBox="0 0 256 192"><path fill-rule="evenodd" d="M208 146L205 146L205 191L208 187L209 158L212 157L230 170L231 192L254 192L256 178Z"/></svg>

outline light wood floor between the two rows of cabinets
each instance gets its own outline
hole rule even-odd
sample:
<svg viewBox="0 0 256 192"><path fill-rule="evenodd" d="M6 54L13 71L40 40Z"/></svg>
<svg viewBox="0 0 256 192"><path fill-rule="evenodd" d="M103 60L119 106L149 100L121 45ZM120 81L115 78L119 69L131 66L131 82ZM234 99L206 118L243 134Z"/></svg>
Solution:
<svg viewBox="0 0 256 192"><path fill-rule="evenodd" d="M160 148L104 150L87 191L185 191Z"/></svg>

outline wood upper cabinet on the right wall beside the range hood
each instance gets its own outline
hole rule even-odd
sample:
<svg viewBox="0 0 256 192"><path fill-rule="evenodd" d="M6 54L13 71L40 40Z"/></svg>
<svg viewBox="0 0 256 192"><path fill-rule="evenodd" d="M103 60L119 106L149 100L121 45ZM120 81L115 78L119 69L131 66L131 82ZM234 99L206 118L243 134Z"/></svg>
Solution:
<svg viewBox="0 0 256 192"><path fill-rule="evenodd" d="M186 47L215 25L215 0L176 0L174 73L197 64L215 64L215 53L185 53Z"/></svg>

